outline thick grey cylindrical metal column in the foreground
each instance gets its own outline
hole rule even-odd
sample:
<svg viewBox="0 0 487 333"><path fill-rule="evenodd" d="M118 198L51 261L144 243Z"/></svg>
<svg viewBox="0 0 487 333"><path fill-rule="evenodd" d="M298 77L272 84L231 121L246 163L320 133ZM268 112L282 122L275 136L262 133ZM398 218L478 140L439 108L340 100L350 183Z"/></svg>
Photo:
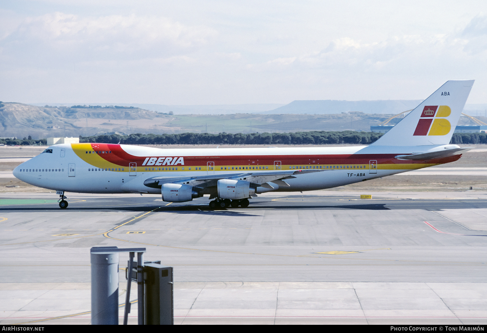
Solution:
<svg viewBox="0 0 487 333"><path fill-rule="evenodd" d="M118 325L118 252L91 253L92 325Z"/></svg>

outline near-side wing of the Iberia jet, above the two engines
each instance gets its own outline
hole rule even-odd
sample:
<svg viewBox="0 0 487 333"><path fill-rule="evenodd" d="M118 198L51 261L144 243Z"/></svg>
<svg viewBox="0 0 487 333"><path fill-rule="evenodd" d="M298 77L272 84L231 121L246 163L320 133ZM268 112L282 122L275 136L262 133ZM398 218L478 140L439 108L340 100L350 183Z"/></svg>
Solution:
<svg viewBox="0 0 487 333"><path fill-rule="evenodd" d="M163 184L187 184L195 187L205 188L209 186L216 186L220 179L232 179L249 182L255 187L263 186L269 188L267 182L274 182L280 186L289 186L285 179L296 178L296 175L312 172L320 172L326 170L274 170L274 171L256 171L244 173L225 173L217 175L202 175L193 177L152 177L146 179L144 185L153 188L161 188ZM272 188L272 186L270 187Z"/></svg>

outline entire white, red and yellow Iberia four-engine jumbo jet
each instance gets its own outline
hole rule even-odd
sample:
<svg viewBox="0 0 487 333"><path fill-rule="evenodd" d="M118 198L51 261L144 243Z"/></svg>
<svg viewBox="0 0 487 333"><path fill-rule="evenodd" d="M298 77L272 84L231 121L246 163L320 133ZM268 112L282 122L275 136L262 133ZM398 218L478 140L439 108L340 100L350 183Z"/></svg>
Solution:
<svg viewBox="0 0 487 333"><path fill-rule="evenodd" d="M62 144L22 163L14 175L58 191L63 201L65 191L148 193L168 202L209 195L215 198L212 207L246 206L263 192L324 189L458 160L466 148L449 143L472 84L448 81L369 146L160 149Z"/></svg>

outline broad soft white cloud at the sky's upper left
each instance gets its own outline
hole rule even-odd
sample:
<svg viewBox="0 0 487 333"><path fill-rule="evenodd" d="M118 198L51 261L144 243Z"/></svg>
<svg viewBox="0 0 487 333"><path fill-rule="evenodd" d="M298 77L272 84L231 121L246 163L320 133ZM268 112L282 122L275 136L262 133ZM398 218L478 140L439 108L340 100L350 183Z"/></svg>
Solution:
<svg viewBox="0 0 487 333"><path fill-rule="evenodd" d="M165 17L80 17L56 12L24 19L16 30L3 32L2 44L20 44L26 50L40 44L46 52L175 54L205 45L216 35L206 26L187 26Z"/></svg>

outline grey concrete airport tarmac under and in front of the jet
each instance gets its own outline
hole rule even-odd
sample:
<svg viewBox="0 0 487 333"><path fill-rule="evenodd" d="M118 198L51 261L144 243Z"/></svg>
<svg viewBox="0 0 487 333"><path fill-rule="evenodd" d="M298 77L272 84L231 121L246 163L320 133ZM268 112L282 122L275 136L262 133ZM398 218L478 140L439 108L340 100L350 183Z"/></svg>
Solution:
<svg viewBox="0 0 487 333"><path fill-rule="evenodd" d="M266 193L213 211L68 198L61 210L54 193L1 193L1 324L89 324L92 246L173 266L177 324L487 322L485 191ZM120 303L125 289L121 270Z"/></svg>

